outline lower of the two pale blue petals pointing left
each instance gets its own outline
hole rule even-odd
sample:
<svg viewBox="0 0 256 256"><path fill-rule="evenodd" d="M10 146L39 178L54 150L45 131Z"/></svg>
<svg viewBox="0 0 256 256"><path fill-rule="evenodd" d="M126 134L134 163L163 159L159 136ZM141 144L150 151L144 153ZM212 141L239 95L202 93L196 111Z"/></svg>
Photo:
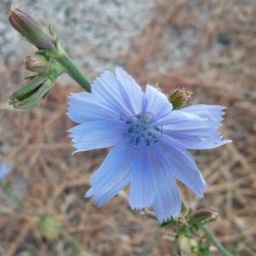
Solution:
<svg viewBox="0 0 256 256"><path fill-rule="evenodd" d="M74 126L69 130L76 150L86 151L96 148L108 148L122 141L124 125L106 120L88 121L82 125Z"/></svg>

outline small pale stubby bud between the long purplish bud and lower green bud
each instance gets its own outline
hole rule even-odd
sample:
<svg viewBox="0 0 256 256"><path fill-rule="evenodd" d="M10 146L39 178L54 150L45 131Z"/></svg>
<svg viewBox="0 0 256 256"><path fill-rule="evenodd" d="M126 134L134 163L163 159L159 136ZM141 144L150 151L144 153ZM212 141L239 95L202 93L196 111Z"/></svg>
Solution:
<svg viewBox="0 0 256 256"><path fill-rule="evenodd" d="M34 73L49 73L52 63L44 55L26 56L26 69Z"/></svg>

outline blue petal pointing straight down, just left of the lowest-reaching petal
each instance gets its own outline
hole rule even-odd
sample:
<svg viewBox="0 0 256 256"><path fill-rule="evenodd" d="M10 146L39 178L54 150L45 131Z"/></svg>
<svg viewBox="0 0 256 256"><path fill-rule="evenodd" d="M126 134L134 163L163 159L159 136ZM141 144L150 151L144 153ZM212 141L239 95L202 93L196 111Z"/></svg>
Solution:
<svg viewBox="0 0 256 256"><path fill-rule="evenodd" d="M147 148L138 148L131 165L131 192L129 203L132 209L150 206L154 201L152 161Z"/></svg>

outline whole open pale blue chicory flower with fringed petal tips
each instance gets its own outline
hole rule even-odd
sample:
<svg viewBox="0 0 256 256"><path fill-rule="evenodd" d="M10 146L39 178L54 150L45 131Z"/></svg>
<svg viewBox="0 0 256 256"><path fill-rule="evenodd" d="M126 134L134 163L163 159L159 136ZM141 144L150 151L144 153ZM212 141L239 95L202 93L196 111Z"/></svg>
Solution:
<svg viewBox="0 0 256 256"><path fill-rule="evenodd" d="M181 198L176 178L202 196L206 182L186 150L217 148L230 141L218 133L224 107L194 105L174 110L157 88L143 91L123 69L104 72L91 93L69 97L68 116L76 150L113 147L91 177L85 197L98 207L131 184L132 209L153 206L160 222L177 217Z"/></svg>

